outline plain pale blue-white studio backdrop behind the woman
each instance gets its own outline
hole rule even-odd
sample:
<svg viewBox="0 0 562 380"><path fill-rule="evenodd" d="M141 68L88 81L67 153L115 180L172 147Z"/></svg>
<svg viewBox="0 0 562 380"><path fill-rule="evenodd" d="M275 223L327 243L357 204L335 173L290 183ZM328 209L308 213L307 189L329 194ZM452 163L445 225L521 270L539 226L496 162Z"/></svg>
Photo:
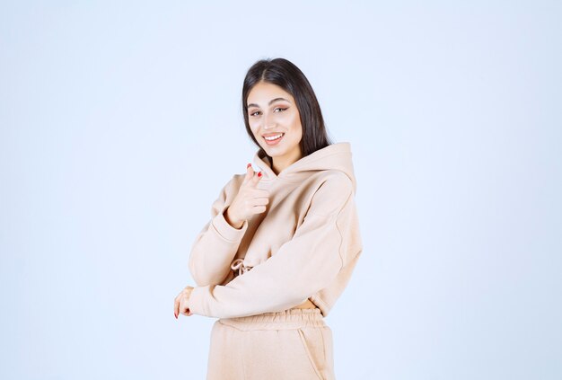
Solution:
<svg viewBox="0 0 562 380"><path fill-rule="evenodd" d="M562 376L558 2L0 5L0 377L203 379L173 317L285 57L351 143L364 252L326 322L346 379Z"/></svg>

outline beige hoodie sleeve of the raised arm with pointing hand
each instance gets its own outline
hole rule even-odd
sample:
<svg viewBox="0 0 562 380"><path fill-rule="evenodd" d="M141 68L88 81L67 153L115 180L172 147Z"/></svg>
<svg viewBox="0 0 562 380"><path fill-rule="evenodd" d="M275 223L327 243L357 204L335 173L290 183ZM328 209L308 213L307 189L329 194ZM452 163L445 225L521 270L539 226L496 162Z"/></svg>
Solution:
<svg viewBox="0 0 562 380"><path fill-rule="evenodd" d="M231 270L242 236L248 229L244 221L240 229L224 218L224 210L236 196L234 177L228 181L211 207L211 219L199 232L189 253L189 272L199 287L220 284Z"/></svg>

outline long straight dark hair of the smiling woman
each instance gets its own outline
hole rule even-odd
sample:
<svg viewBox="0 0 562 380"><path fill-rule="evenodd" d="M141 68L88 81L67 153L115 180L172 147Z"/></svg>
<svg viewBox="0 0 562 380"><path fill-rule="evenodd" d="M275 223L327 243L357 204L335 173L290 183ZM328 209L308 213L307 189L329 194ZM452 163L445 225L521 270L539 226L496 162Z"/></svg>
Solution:
<svg viewBox="0 0 562 380"><path fill-rule="evenodd" d="M324 126L320 104L312 90L312 85L303 72L285 58L260 59L250 67L242 86L244 124L248 136L259 147L259 157L267 156L269 163L272 163L271 157L256 141L248 122L248 95L253 86L260 82L277 84L293 96L303 126L303 138L299 143L303 157L332 144Z"/></svg>

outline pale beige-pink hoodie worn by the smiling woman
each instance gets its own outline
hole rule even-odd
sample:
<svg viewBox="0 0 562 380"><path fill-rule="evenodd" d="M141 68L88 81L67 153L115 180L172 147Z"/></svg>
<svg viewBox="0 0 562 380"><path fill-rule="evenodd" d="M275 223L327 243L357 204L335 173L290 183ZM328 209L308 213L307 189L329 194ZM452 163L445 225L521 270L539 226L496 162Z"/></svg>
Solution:
<svg viewBox="0 0 562 380"><path fill-rule="evenodd" d="M234 174L211 209L189 255L198 285L193 314L231 318L279 312L307 298L325 317L341 295L363 250L355 203L356 178L347 142L307 155L279 175L254 155L269 191L266 212L241 229L224 219L244 174Z"/></svg>

